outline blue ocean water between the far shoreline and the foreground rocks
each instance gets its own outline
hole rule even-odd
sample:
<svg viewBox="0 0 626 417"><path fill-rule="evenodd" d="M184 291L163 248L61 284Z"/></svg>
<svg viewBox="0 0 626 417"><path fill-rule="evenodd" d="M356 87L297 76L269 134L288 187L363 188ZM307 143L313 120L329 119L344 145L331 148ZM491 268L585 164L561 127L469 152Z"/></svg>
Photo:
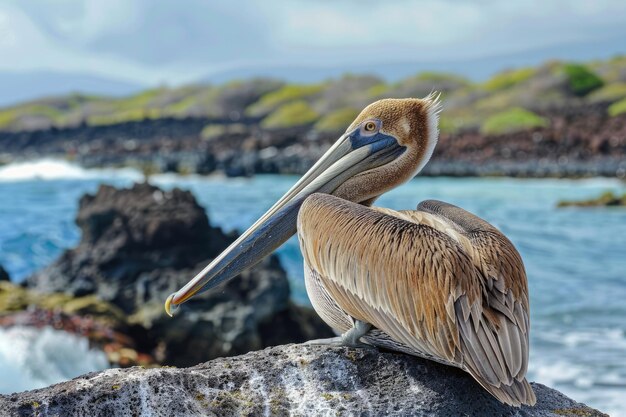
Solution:
<svg viewBox="0 0 626 417"><path fill-rule="evenodd" d="M80 235L73 220L82 194L95 192L101 183L128 186L139 179L141 175L132 170L87 171L59 161L0 168L0 264L15 281L24 279L77 243ZM245 229L296 180L292 176L175 175L151 179L163 188L191 190L207 208L211 222L226 230ZM418 177L381 197L377 205L411 209L421 200L435 198L460 205L499 227L522 254L528 272L529 378L612 416L626 416L626 210L555 207L561 199L595 197L607 190L626 192L626 184L610 179ZM294 299L307 304L297 241L283 245L279 256L289 273ZM102 367L97 354L85 354L88 359L81 366L59 363L56 366L63 372L51 373L54 378L33 379L31 368L37 362L12 360L3 345L6 337L6 331L0 333L0 374L11 367L15 388L0 385L0 392ZM53 349L55 343L68 342L61 336L31 348L27 355L42 355L33 349Z"/></svg>

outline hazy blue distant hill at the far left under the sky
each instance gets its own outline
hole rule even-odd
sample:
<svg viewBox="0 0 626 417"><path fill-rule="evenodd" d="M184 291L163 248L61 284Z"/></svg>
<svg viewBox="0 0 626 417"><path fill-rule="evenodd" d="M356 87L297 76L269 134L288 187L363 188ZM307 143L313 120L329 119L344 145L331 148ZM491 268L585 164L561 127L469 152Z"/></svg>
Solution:
<svg viewBox="0 0 626 417"><path fill-rule="evenodd" d="M78 73L0 72L0 106L79 91L84 94L121 96L141 89L142 86L138 84Z"/></svg>

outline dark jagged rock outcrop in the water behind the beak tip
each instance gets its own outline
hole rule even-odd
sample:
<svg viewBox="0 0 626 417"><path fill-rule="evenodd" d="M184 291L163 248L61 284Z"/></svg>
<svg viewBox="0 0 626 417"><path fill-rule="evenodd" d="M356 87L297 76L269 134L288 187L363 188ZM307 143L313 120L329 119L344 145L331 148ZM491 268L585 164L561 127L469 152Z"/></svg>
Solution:
<svg viewBox="0 0 626 417"><path fill-rule="evenodd" d="M158 363L188 366L332 335L311 309L290 302L276 256L186 303L182 314L164 314L167 296L236 238L211 226L190 192L102 186L81 199L76 223L78 246L29 277L28 289L95 296L121 309L133 348Z"/></svg>

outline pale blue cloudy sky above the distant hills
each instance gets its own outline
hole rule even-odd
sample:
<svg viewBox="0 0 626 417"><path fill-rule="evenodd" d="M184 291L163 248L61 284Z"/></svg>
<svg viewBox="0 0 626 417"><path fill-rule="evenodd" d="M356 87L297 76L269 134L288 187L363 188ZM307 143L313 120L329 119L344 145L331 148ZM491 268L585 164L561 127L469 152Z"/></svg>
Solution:
<svg viewBox="0 0 626 417"><path fill-rule="evenodd" d="M626 39L624 0L0 0L0 72L141 85L239 68L446 62ZM610 48L609 48L610 49ZM619 49L619 48L618 48ZM565 57L567 58L567 57Z"/></svg>

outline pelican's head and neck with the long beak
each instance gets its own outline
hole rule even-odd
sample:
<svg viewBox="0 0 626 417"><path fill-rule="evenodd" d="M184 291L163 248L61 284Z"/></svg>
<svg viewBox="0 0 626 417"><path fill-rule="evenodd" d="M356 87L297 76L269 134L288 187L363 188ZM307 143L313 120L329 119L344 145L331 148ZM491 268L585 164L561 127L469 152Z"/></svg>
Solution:
<svg viewBox="0 0 626 417"><path fill-rule="evenodd" d="M235 277L296 232L298 210L313 193L371 204L422 169L437 143L439 96L385 99L367 106L302 178L182 289L165 310Z"/></svg>

